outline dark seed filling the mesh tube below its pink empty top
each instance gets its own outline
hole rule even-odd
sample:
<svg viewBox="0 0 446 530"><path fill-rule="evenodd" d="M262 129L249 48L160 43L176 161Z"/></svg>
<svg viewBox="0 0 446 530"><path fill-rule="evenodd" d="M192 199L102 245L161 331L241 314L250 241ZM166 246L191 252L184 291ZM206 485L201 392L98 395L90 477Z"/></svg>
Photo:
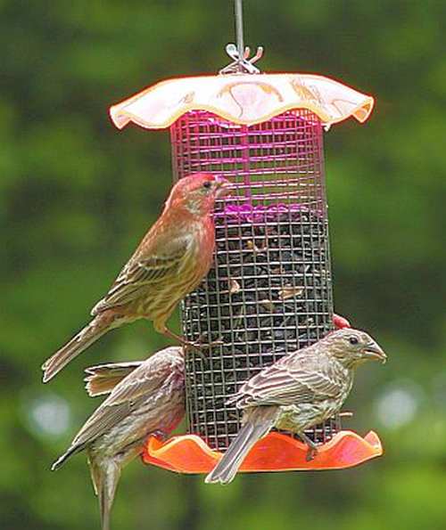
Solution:
<svg viewBox="0 0 446 530"><path fill-rule="evenodd" d="M241 412L226 405L244 380L332 329L327 223L309 208L227 207L215 216L216 263L183 305L186 338L213 345L188 356L190 430L226 450ZM191 406L192 405L192 406ZM310 429L325 442L339 418Z"/></svg>

